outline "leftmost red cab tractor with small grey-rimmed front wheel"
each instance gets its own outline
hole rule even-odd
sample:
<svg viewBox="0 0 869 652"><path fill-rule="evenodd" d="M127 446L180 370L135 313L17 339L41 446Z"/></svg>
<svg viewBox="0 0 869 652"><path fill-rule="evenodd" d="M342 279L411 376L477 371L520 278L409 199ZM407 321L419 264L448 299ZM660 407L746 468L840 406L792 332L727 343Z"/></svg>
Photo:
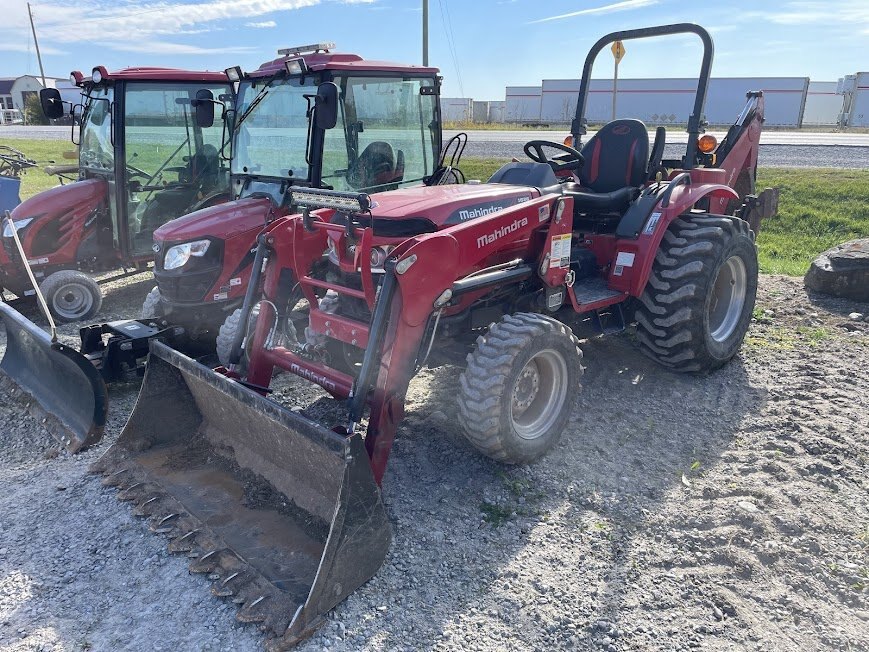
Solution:
<svg viewBox="0 0 869 652"><path fill-rule="evenodd" d="M165 222L229 199L229 174L218 155L223 125L200 124L196 103L231 101L225 73L103 66L81 87L79 180L25 200L14 228L48 306L59 321L93 317L102 303L91 276L144 271L152 237ZM56 89L40 93L49 118L66 109ZM219 98L215 100L214 98ZM34 290L6 227L0 248L0 290Z"/></svg>

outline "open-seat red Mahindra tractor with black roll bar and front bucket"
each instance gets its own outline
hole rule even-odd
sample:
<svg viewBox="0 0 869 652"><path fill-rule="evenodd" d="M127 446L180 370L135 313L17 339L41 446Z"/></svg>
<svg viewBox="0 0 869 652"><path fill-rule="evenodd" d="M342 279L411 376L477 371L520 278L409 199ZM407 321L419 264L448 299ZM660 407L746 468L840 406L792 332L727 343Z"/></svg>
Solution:
<svg viewBox="0 0 869 652"><path fill-rule="evenodd" d="M598 52L682 33L704 46L685 156L662 160L666 134L650 147L638 120L582 145ZM748 223L724 214L741 170L714 167L698 143L711 65L696 25L616 32L586 59L575 148L530 141L530 162L486 184L284 188L302 212L258 237L242 323L259 310L252 332L236 332L229 369L152 342L136 408L94 470L232 596L241 620L262 624L269 649L286 649L386 555L379 485L408 383L433 350L465 366L455 415L468 439L509 464L545 454L568 422L582 375L576 320L619 330L632 300L643 353L675 371L726 364L758 267ZM762 113L759 96L749 101ZM746 138L733 146L756 150ZM304 312L290 307L296 292ZM319 424L267 398L276 368L346 401L346 416Z"/></svg>

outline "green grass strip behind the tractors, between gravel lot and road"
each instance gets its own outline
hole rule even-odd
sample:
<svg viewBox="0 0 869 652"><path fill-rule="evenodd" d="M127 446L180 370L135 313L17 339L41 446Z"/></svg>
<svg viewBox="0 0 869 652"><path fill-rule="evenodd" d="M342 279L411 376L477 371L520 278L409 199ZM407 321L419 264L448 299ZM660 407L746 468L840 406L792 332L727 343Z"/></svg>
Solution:
<svg viewBox="0 0 869 652"><path fill-rule="evenodd" d="M40 165L49 160L69 162L63 152L69 141L3 140ZM468 179L488 179L507 159L465 158ZM57 185L41 169L29 171L21 184L22 198ZM869 237L869 170L761 168L758 187L781 188L777 217L764 222L758 236L761 270L802 276L812 259L829 247Z"/></svg>

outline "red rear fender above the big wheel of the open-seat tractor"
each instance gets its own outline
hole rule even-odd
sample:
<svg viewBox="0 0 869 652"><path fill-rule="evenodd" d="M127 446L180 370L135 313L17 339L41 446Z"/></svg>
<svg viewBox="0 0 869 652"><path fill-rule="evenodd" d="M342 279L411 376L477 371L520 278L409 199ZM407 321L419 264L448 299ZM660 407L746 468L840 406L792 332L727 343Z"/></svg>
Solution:
<svg viewBox="0 0 869 652"><path fill-rule="evenodd" d="M709 198L709 212L722 214L727 202L739 196L730 186L718 183L674 188L668 205L664 207L661 201L655 206L636 240L617 241L616 256L609 270L609 287L639 297L649 280L652 263L670 224L706 197Z"/></svg>

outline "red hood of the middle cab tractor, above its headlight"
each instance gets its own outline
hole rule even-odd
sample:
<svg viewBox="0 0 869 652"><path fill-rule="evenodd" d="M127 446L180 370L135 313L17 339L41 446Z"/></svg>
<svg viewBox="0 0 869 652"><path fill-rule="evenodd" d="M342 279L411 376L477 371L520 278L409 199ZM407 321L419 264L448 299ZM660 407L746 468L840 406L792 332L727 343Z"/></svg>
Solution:
<svg viewBox="0 0 869 652"><path fill-rule="evenodd" d="M251 229L264 227L271 210L272 202L265 197L218 204L166 222L154 231L154 241L188 242L203 237L229 240Z"/></svg>

